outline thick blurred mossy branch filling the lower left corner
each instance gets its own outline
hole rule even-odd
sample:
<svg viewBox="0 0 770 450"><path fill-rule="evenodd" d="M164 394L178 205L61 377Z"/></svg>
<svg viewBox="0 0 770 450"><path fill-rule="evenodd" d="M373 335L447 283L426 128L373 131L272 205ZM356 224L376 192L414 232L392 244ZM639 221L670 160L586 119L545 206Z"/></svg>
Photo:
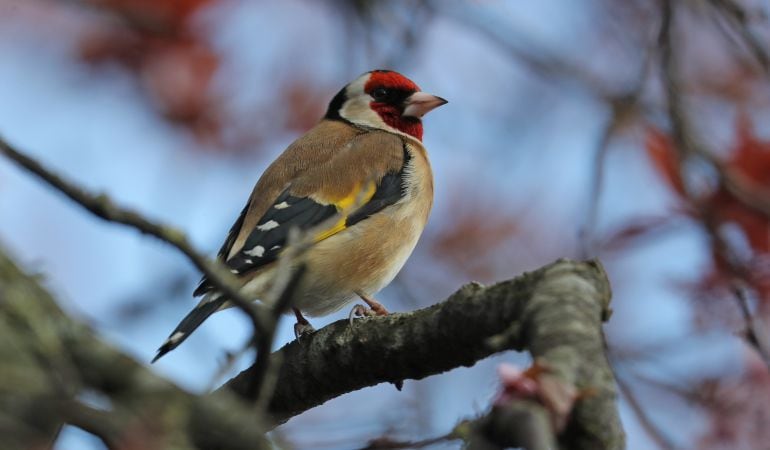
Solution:
<svg viewBox="0 0 770 450"><path fill-rule="evenodd" d="M195 396L154 375L67 317L2 251L0 342L3 448L44 448L61 423L119 448L268 447L241 401ZM104 410L80 403L94 393Z"/></svg>

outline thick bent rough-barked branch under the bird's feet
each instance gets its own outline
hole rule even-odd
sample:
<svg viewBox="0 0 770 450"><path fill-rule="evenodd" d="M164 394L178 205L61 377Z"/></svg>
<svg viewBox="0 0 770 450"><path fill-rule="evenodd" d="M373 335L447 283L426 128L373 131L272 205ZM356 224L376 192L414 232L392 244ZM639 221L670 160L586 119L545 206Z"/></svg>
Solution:
<svg viewBox="0 0 770 450"><path fill-rule="evenodd" d="M406 314L335 322L277 353L284 361L270 412L285 421L341 394L421 379L503 350L529 349L554 375L586 392L564 448L616 449L623 431L601 331L609 284L598 263L560 260L510 281L469 284L445 302ZM254 368L225 388L245 395Z"/></svg>

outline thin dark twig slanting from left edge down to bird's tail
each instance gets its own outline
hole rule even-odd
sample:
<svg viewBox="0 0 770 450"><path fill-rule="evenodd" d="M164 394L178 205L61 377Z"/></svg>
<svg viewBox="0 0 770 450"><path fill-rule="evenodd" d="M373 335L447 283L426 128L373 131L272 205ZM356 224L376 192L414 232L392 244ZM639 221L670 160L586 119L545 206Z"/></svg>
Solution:
<svg viewBox="0 0 770 450"><path fill-rule="evenodd" d="M236 286L232 275L218 262L211 261L193 248L187 237L179 230L167 225L151 222L141 214L115 205L104 194L94 195L56 175L39 162L15 149L4 139L0 138L0 153L19 164L24 169L35 174L54 189L60 191L75 203L79 204L96 217L108 222L119 223L139 230L170 244L182 252L200 270L211 284L224 294L234 305L240 308L251 320L255 333L263 328L268 318L261 308L243 297Z"/></svg>

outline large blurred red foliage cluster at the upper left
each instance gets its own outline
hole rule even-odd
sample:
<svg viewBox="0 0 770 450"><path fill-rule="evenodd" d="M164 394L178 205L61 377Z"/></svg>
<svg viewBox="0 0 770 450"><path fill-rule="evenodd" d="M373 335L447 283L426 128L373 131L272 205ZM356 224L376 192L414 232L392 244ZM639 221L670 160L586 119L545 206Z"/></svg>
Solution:
<svg viewBox="0 0 770 450"><path fill-rule="evenodd" d="M217 140L220 99L210 85L220 61L191 23L195 13L216 1L90 0L113 20L84 36L80 56L135 72L164 116L202 140Z"/></svg>

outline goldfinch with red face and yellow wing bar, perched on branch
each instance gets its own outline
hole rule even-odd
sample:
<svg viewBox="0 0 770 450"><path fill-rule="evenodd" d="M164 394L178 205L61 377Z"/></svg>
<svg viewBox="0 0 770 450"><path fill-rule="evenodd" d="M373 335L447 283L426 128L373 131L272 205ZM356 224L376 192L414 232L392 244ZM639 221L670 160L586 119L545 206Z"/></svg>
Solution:
<svg viewBox="0 0 770 450"><path fill-rule="evenodd" d="M239 293L266 300L290 231L298 229L314 233L292 294L298 339L312 331L304 315L327 315L358 298L368 308L353 308L351 321L354 314L387 315L374 295L411 255L433 205L422 118L446 103L391 70L366 72L343 87L320 122L268 166L230 228L217 258L236 276ZM205 276L193 295L200 302L153 363L232 306Z"/></svg>

